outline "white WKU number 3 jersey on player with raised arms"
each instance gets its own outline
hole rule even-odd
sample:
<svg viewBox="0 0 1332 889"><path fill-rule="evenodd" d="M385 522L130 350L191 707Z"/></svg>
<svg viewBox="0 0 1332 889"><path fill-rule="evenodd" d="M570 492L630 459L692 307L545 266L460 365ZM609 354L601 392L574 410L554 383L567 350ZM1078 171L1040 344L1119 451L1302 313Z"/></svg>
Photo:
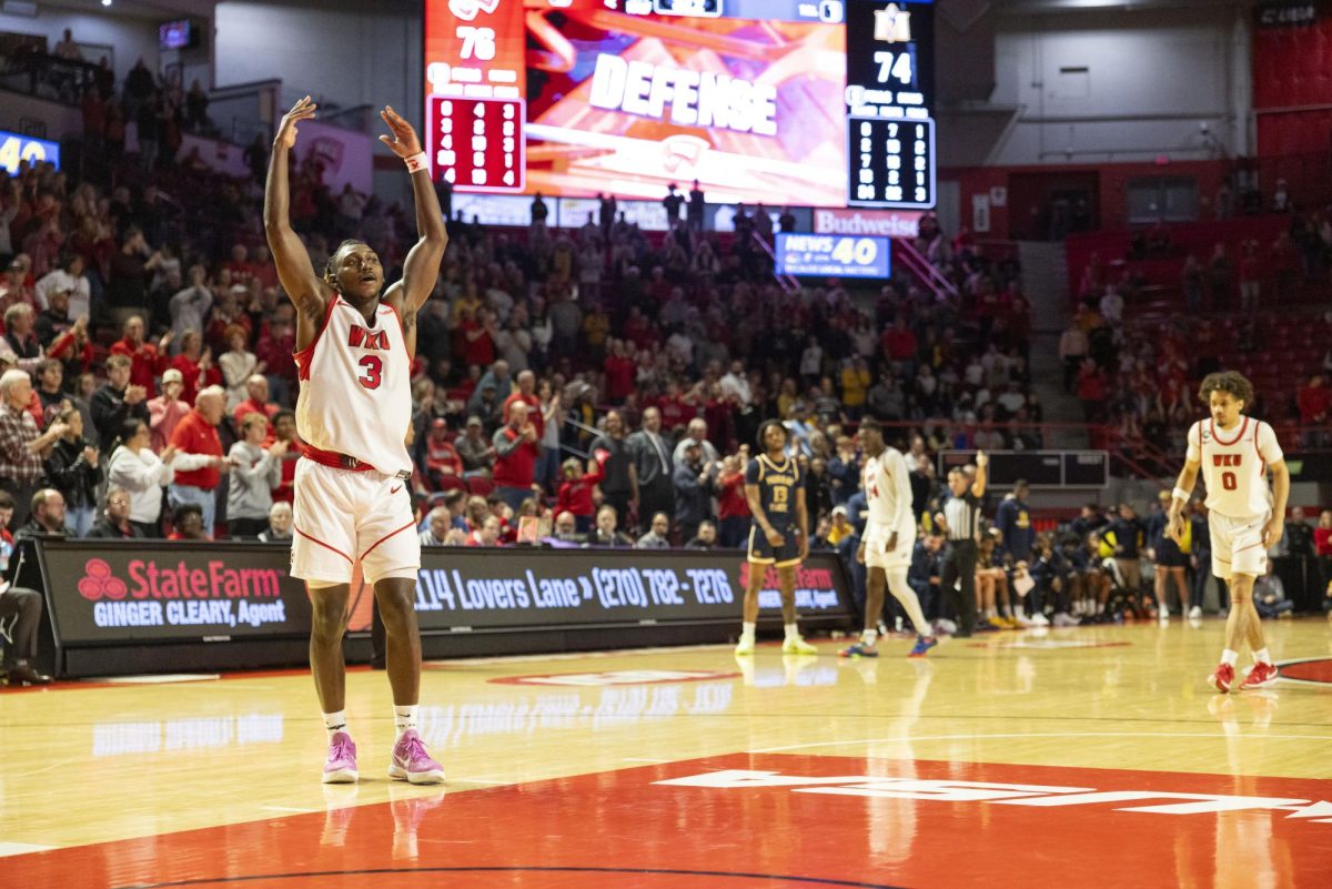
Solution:
<svg viewBox="0 0 1332 889"><path fill-rule="evenodd" d="M296 430L313 447L354 456L385 475L410 472L412 357L398 313L380 303L374 323L334 295L314 342L296 353Z"/></svg>

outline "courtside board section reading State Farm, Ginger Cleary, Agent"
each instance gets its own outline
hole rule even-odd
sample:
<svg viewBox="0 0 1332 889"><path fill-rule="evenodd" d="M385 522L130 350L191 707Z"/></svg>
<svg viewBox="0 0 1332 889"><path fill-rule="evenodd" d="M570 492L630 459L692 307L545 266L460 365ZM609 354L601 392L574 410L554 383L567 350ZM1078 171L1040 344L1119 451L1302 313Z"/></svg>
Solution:
<svg viewBox="0 0 1332 889"><path fill-rule="evenodd" d="M310 632L305 584L288 574L284 547L43 540L41 562L64 645Z"/></svg>

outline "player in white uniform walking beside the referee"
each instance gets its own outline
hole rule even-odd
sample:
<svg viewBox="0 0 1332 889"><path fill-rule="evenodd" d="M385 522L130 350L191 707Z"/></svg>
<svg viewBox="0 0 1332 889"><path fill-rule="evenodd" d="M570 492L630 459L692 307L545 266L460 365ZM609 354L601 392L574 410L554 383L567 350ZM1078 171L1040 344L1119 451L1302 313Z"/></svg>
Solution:
<svg viewBox="0 0 1332 889"><path fill-rule="evenodd" d="M916 644L910 657L924 657L938 645L928 633L924 612L915 590L907 584L911 552L915 548L916 522L911 511L911 475L902 451L883 442L883 430L872 419L863 421L856 433L860 448L868 458L860 472L864 499L870 504L870 520L864 526L864 539L855 552L855 560L867 568L864 584L864 631L860 641L839 652L843 657L878 657L875 641L879 619L883 615L883 587L887 583L894 598L906 608L916 631Z"/></svg>

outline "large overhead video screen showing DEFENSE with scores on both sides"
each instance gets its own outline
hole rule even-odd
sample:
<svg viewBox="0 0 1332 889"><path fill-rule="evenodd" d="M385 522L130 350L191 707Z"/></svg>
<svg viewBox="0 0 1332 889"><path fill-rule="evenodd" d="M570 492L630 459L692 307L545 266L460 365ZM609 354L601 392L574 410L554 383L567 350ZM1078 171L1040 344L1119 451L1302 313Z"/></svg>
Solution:
<svg viewBox="0 0 1332 889"><path fill-rule="evenodd" d="M698 180L714 202L932 206L930 13L426 0L432 173L458 192L659 200Z"/></svg>

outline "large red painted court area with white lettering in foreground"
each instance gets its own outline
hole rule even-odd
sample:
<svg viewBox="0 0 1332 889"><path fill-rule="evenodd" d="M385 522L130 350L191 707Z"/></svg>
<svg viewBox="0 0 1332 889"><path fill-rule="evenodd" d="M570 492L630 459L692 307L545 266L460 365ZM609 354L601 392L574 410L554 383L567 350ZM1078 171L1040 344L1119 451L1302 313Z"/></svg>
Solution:
<svg viewBox="0 0 1332 889"><path fill-rule="evenodd" d="M366 806L330 793L325 813L20 856L3 874L80 889L1328 886L1329 796L1316 780L735 755L404 785Z"/></svg>

